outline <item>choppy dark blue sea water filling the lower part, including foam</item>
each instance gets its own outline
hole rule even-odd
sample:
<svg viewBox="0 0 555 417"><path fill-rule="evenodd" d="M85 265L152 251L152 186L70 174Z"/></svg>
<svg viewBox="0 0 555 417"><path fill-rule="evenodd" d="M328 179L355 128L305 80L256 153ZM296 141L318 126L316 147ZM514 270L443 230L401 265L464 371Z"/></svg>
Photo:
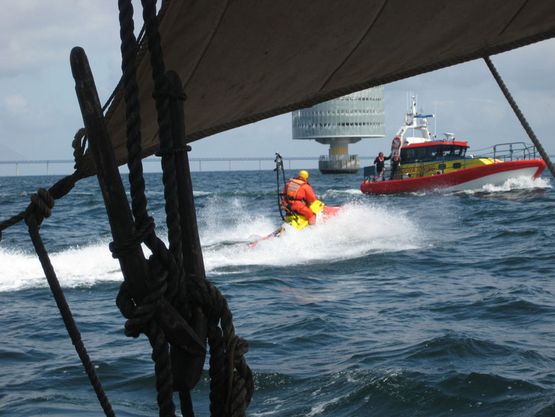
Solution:
<svg viewBox="0 0 555 417"><path fill-rule="evenodd" d="M248 340L250 416L555 416L555 193L517 180L467 193L371 197L313 174L344 209L254 249L279 224L271 171L194 173L208 278ZM160 175L147 176L163 236ZM0 178L2 219L54 177ZM146 338L115 306L122 280L94 179L42 227L118 416L157 415ZM0 415L102 410L22 225L0 243ZM194 391L208 415L208 379Z"/></svg>

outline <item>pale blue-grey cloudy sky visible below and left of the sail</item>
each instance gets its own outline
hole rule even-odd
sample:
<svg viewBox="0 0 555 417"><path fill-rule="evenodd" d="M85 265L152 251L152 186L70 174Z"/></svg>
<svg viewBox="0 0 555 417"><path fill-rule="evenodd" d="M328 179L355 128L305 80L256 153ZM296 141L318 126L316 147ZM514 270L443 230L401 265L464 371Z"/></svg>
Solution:
<svg viewBox="0 0 555 417"><path fill-rule="evenodd" d="M0 28L0 161L71 159L71 140L82 119L69 53L74 46L85 49L105 102L121 74L117 2L4 2ZM494 55L492 61L547 152L555 154L555 39ZM349 153L372 156L387 150L411 94L419 110L436 115L430 126L437 126L438 136L454 132L471 149L529 142L482 60L387 84L384 91L385 137L352 144ZM292 140L290 113L196 141L192 148L192 158L328 152L326 145Z"/></svg>

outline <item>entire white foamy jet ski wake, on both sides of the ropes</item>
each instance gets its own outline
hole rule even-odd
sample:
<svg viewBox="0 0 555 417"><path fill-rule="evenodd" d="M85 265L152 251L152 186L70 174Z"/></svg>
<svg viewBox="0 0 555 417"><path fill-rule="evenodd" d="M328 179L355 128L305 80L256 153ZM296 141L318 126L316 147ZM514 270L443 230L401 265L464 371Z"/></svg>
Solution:
<svg viewBox="0 0 555 417"><path fill-rule="evenodd" d="M279 238L250 248L255 236L265 236L279 226L277 213L249 217L240 198L208 205L200 214L201 243L206 271L222 273L229 267L253 265L283 266L315 262L336 262L370 253L394 252L423 246L417 225L401 209L383 208L369 203L351 203L327 222L302 231L287 227ZM213 204L212 204L213 203ZM161 236L162 237L162 236ZM165 240L165 239L163 239ZM148 256L148 251L145 250ZM108 241L75 247L50 254L54 270L63 287L92 286L119 282L119 263L108 249ZM0 249L0 291L46 287L47 282L34 252ZM241 269L241 268L240 268ZM244 268L242 268L244 270Z"/></svg>

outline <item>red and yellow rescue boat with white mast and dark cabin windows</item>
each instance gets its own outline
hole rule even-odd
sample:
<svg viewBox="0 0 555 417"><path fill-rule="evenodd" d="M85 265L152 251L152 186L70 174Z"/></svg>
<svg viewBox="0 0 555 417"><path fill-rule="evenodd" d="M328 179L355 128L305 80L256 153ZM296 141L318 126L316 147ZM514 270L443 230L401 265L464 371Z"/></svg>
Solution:
<svg viewBox="0 0 555 417"><path fill-rule="evenodd" d="M484 185L502 185L509 178L538 178L545 169L543 159L536 156L533 146L523 142L497 144L487 152L467 155L468 142L455 140L446 133L443 140L434 140L428 131L427 118L412 109L405 124L393 139L391 159L400 157L398 166L382 173L375 166L364 169L365 179L360 190L367 194L395 194L437 189L474 190ZM419 136L408 137L409 131Z"/></svg>

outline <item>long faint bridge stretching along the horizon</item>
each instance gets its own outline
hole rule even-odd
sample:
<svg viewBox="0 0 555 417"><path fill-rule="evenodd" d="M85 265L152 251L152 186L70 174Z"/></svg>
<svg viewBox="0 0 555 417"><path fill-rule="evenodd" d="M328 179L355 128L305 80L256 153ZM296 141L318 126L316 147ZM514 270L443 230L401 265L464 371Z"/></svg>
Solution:
<svg viewBox="0 0 555 417"><path fill-rule="evenodd" d="M300 161L305 161L305 162L313 162L314 164L311 164L311 166L309 168L317 168L317 162L320 158L317 156L297 156L297 157L287 157L287 158L283 158L284 161L284 168L286 169L296 169L298 168L297 166L292 166L292 163L294 162L300 162ZM370 156L359 156L359 160L360 161L365 161L365 160L370 160L373 159L373 157ZM273 168L273 165L270 167L269 163L273 164L274 163L275 158L274 157L207 157L207 158L189 158L189 162L191 164L191 170L192 171L202 171L203 170L203 163L204 163L204 167L206 168L206 165L211 163L211 166L214 166L214 164L216 164L216 166L218 167L217 170L222 171L222 170L228 170L228 171L232 171L232 170L253 170L256 169L256 166L258 166L258 170L262 171L263 169L263 164L265 165L264 169L271 169ZM7 166L13 166L14 167L14 171L11 171L11 173L8 173L7 170L2 170L0 171L0 175L15 175L15 176L19 176L21 174L20 172L20 168L21 167L26 167L26 166L37 166L37 165L42 165L44 167L44 171L41 170L41 173L37 173L36 169L33 170L33 173L36 175L49 175L51 172L51 168L54 165L73 165L75 163L75 161L73 159L28 159L28 160L11 160L11 161L0 161L0 165L7 165ZM145 158L143 159L143 163L147 163L147 164L151 164L151 163L160 163L160 158L154 158L154 157L149 157L149 158ZM243 165L245 165L244 163L248 163L248 167L238 167L237 163L243 163ZM362 164L361 164L362 165ZM67 171L69 172L71 170L68 169Z"/></svg>

